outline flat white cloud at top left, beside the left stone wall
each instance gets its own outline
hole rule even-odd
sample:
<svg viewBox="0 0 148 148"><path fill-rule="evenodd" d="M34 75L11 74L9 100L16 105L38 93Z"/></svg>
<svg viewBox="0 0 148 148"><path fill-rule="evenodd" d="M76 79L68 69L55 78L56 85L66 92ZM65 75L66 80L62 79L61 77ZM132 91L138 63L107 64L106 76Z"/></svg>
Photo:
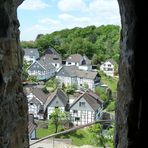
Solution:
<svg viewBox="0 0 148 148"><path fill-rule="evenodd" d="M19 8L23 10L39 10L49 6L49 4L43 2L42 0L25 0Z"/></svg>

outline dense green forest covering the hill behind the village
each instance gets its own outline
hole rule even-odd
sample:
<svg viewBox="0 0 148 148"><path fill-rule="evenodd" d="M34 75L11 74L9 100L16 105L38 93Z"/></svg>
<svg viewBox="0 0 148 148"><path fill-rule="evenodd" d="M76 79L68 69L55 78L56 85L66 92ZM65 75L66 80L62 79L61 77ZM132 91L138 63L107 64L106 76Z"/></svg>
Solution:
<svg viewBox="0 0 148 148"><path fill-rule="evenodd" d="M21 41L22 48L38 48L42 55L48 47L53 47L63 60L70 54L85 54L95 65L107 59L119 61L120 26L102 25L75 27L39 34L35 41Z"/></svg>

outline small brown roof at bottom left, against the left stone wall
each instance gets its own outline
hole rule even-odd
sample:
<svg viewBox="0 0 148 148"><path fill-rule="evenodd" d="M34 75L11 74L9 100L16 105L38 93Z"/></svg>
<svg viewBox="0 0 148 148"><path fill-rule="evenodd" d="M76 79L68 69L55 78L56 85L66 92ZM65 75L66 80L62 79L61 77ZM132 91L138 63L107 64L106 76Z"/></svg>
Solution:
<svg viewBox="0 0 148 148"><path fill-rule="evenodd" d="M32 114L29 115L29 122L28 122L28 132L29 135L36 129L37 124L34 122L34 117Z"/></svg>

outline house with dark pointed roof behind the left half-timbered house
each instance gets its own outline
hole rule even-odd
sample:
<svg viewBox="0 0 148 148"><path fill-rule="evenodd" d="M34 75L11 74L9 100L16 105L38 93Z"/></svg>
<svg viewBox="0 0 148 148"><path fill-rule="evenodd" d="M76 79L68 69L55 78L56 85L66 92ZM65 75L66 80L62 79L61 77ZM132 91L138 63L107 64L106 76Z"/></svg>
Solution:
<svg viewBox="0 0 148 148"><path fill-rule="evenodd" d="M56 70L62 66L62 58L59 53L56 52L54 48L47 48L44 56L48 59L49 63L51 63L53 66L55 66Z"/></svg>

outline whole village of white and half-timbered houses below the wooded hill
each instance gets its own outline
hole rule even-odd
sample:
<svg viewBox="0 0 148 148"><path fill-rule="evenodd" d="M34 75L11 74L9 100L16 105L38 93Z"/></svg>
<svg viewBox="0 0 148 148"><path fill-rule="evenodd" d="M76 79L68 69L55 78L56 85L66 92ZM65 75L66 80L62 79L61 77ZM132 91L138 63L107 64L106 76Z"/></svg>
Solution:
<svg viewBox="0 0 148 148"><path fill-rule="evenodd" d="M37 138L34 119L50 121L55 109L68 113L72 126L85 125L103 119L105 115L107 119L114 118L104 111L103 98L95 93L97 86L105 90L108 87L101 83L100 74L86 55L72 54L62 61L61 55L51 47L41 57L37 49L27 48L24 49L24 61L28 65L26 72L33 80L23 82L28 99L30 140ZM113 77L113 61L102 63L100 70Z"/></svg>

